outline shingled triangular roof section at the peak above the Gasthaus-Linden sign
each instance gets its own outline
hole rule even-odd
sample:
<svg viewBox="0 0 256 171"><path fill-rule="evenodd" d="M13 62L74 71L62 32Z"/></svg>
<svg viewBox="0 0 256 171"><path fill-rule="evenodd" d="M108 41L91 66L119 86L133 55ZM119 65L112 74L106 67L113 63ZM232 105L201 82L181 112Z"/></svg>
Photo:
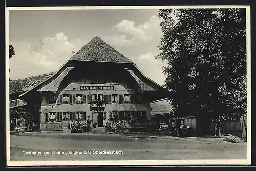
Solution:
<svg viewBox="0 0 256 171"><path fill-rule="evenodd" d="M102 41L99 37L94 37L89 43L83 46L69 60L71 61L96 61L114 63L133 63L124 57L109 44Z"/></svg>

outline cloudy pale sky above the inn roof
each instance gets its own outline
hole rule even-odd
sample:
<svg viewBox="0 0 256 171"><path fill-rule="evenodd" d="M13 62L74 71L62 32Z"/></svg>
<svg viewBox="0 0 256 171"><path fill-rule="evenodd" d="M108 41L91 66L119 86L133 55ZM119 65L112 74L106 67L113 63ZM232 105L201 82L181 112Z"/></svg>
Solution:
<svg viewBox="0 0 256 171"><path fill-rule="evenodd" d="M160 53L161 20L157 9L9 11L10 79L57 71L95 36L132 60L144 75L162 85L155 59Z"/></svg>

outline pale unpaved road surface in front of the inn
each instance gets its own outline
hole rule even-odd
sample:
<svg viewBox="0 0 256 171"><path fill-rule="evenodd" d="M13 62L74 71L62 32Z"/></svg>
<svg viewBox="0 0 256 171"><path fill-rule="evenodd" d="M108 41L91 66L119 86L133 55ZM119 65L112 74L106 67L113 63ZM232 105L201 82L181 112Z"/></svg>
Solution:
<svg viewBox="0 0 256 171"><path fill-rule="evenodd" d="M10 145L11 161L246 159L247 156L246 142L230 143L221 138L84 133L11 135ZM114 151L120 154L113 154Z"/></svg>

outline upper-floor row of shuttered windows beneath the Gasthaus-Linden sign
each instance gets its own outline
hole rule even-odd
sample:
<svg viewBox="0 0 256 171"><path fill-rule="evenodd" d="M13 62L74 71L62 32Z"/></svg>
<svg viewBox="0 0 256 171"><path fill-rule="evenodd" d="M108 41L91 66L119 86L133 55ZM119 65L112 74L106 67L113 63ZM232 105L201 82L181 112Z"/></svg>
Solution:
<svg viewBox="0 0 256 171"><path fill-rule="evenodd" d="M61 94L57 99L57 104L90 104L96 100L103 100L106 103L141 103L142 97L135 98L134 94ZM52 96L49 103L55 102L55 96Z"/></svg>

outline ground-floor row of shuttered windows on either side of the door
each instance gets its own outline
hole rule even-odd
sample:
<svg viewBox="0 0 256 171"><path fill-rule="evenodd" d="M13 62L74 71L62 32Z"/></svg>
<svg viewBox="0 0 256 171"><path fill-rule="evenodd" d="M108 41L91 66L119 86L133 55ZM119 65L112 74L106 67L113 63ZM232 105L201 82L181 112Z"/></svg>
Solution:
<svg viewBox="0 0 256 171"><path fill-rule="evenodd" d="M104 112L104 116L105 116ZM131 119L146 120L146 111L110 111L109 119ZM86 112L49 112L46 113L46 122L48 121L76 121L87 120Z"/></svg>

